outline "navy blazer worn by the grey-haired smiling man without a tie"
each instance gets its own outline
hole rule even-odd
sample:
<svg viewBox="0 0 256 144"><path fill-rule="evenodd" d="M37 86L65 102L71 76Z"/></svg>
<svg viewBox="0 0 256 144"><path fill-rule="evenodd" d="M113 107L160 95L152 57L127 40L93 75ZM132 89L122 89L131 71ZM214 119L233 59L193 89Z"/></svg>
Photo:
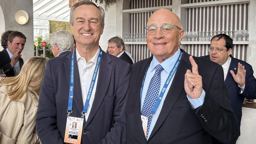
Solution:
<svg viewBox="0 0 256 144"><path fill-rule="evenodd" d="M71 56L72 52L47 61L36 116L36 128L42 143L63 144ZM80 118L83 102L76 52L74 60L74 97L70 116ZM97 77L93 105L82 129L87 133L82 134L81 144L125 143L125 95L130 81L130 65L103 51Z"/></svg>

